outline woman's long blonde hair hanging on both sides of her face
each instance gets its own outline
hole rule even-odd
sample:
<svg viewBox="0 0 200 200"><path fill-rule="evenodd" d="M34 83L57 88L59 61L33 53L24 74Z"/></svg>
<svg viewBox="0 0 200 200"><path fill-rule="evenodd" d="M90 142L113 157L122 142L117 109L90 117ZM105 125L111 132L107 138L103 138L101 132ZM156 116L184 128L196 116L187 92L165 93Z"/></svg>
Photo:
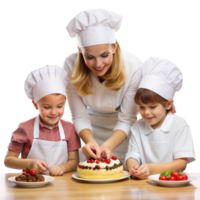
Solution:
<svg viewBox="0 0 200 200"><path fill-rule="evenodd" d="M112 47L113 46L114 44ZM82 54L78 52L71 82L74 85L76 92L82 97L94 94L90 90L92 87L91 73L92 72L84 62ZM124 62L118 41L116 52L113 54L112 65L108 70L108 74L105 74L102 78L107 80L105 86L113 91L119 91L125 84Z"/></svg>

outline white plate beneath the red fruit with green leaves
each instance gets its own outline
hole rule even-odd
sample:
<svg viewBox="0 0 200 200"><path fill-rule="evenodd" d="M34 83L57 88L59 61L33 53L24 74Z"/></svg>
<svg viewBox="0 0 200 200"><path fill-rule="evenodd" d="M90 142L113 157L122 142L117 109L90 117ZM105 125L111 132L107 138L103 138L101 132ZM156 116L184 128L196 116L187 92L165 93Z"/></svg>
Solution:
<svg viewBox="0 0 200 200"><path fill-rule="evenodd" d="M187 173L185 173L185 174L187 174ZM188 180L185 180L185 181L162 181L162 180L159 180L159 176L160 176L160 174L154 174L154 175L148 176L148 178L161 186L168 186L168 187L184 186L184 185L188 184L190 181L197 179L197 177L190 176L187 174Z"/></svg>

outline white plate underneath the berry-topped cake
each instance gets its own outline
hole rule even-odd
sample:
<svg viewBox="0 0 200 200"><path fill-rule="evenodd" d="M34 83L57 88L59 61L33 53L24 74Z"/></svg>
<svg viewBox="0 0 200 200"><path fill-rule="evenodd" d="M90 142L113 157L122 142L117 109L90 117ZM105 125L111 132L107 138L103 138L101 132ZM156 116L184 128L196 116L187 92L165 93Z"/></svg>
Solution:
<svg viewBox="0 0 200 200"><path fill-rule="evenodd" d="M96 183L101 183L101 182L116 182L125 178L130 177L129 172L127 171L123 171L124 172L124 176L119 177L119 178L111 178L111 179L85 179L85 178L80 178L78 177L78 173L76 174L72 174L72 177L76 180L79 181L86 181L86 182L96 182Z"/></svg>

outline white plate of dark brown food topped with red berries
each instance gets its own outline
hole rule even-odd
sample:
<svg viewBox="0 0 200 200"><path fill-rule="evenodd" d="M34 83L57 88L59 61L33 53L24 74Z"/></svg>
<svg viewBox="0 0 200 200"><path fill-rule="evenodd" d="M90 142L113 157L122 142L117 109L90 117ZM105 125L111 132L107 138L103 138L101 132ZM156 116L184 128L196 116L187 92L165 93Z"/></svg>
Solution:
<svg viewBox="0 0 200 200"><path fill-rule="evenodd" d="M53 181L55 178L52 176L38 174L35 169L27 167L22 170L19 176L8 178L9 181L16 183L22 187L40 187Z"/></svg>

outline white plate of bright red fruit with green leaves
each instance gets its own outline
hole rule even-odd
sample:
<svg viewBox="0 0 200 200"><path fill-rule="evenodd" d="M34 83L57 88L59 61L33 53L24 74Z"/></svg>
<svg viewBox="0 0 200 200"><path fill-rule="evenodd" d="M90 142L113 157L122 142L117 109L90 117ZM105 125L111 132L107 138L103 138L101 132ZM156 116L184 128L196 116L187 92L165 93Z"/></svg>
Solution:
<svg viewBox="0 0 200 200"><path fill-rule="evenodd" d="M148 178L161 186L179 187L196 180L197 177L188 175L187 172L176 170L164 171L161 174L154 174Z"/></svg>

